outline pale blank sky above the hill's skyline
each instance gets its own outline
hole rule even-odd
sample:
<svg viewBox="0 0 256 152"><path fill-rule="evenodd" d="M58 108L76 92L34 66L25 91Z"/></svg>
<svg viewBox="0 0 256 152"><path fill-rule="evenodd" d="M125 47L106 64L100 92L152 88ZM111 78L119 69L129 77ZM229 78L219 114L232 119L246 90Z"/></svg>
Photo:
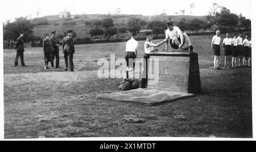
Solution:
<svg viewBox="0 0 256 152"><path fill-rule="evenodd" d="M158 15L166 10L168 15L185 10L190 14L189 5L195 3L192 15L207 15L209 7L213 3L225 6L231 12L242 13L251 19L251 0L2 0L2 21L14 20L20 16L32 15L36 12L40 16L58 15L59 12L67 10L71 14L113 14L117 8L121 14Z"/></svg>

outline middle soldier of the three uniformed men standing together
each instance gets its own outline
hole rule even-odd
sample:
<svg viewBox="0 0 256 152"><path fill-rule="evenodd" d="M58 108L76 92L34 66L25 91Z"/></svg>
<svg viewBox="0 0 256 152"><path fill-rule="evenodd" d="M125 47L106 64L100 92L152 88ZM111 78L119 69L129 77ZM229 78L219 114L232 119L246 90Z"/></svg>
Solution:
<svg viewBox="0 0 256 152"><path fill-rule="evenodd" d="M56 35L56 31L53 31L51 33L52 33L52 37L50 38L51 43L52 43L52 61L51 61L51 65L52 65L52 68L53 68L54 67L54 58L56 57L56 68L60 68L59 67L59 61L60 61L60 57L59 57L60 41L55 36Z"/></svg>

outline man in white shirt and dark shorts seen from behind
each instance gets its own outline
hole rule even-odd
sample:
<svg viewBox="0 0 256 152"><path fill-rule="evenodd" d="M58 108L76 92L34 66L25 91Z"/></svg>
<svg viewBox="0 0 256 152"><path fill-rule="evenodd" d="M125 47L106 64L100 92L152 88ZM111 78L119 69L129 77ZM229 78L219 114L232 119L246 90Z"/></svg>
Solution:
<svg viewBox="0 0 256 152"><path fill-rule="evenodd" d="M135 40L135 36L137 33L131 33L131 39L126 42L126 50L125 50L125 60L126 60L126 75L124 77L128 78L129 71L133 71L135 67L134 59L137 58L137 48L138 48L138 41ZM129 61L132 61L129 63Z"/></svg>

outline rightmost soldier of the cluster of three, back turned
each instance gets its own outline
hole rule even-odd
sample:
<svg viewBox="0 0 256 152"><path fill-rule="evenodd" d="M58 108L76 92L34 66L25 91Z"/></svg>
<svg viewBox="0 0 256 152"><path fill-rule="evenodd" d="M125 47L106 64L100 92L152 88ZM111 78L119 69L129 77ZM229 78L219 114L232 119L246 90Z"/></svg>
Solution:
<svg viewBox="0 0 256 152"><path fill-rule="evenodd" d="M75 47L73 44L73 30L69 30L68 35L64 37L63 41L63 53L65 59L65 71L68 70L68 65L70 66L71 71L74 71L73 64L73 54L75 53ZM69 63L68 63L69 62Z"/></svg>

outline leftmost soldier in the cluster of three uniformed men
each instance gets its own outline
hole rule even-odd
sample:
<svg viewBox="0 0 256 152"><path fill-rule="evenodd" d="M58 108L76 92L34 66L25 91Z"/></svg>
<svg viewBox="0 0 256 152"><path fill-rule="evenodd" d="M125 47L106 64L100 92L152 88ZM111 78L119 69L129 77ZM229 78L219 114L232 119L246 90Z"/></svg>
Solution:
<svg viewBox="0 0 256 152"><path fill-rule="evenodd" d="M52 44L49 40L49 35L46 33L45 39L43 40L44 50L44 69L49 69L48 62L51 62Z"/></svg>

